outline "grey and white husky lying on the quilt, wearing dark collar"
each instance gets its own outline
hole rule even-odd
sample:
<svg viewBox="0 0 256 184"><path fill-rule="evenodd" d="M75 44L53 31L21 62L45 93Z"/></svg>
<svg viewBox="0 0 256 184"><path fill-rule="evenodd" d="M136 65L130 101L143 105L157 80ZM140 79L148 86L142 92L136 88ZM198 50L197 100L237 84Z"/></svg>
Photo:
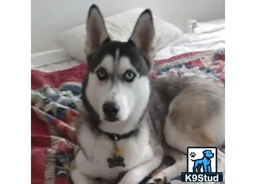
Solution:
<svg viewBox="0 0 256 184"><path fill-rule="evenodd" d="M129 40L118 42L110 39L99 8L90 7L88 72L76 120L80 150L70 170L74 184L98 178L137 184L164 156L176 162L148 183L169 182L186 172L187 147L224 145L224 88L201 77L151 80L154 38L150 9L139 16ZM218 167L223 171L224 163Z"/></svg>

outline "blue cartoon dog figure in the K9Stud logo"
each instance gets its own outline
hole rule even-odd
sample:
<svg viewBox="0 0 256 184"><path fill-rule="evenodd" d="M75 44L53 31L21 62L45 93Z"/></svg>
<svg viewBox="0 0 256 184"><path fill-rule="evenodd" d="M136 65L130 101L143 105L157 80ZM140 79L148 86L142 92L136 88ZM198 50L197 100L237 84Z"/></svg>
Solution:
<svg viewBox="0 0 256 184"><path fill-rule="evenodd" d="M193 172L194 173L200 173L201 168L203 168L204 173L211 173L211 160L210 158L214 157L214 154L211 153L211 150L204 150L202 152L204 154L204 157L201 159L192 160L194 161L193 164Z"/></svg>

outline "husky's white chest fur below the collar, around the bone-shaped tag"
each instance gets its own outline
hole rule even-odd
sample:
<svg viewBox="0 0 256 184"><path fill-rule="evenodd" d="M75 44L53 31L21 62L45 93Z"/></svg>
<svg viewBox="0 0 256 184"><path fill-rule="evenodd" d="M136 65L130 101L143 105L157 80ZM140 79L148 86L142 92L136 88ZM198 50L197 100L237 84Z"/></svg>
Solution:
<svg viewBox="0 0 256 184"><path fill-rule="evenodd" d="M86 132L88 135L88 132ZM82 135L82 134L80 134ZM76 156L75 164L80 173L83 173L90 177L102 177L104 179L115 179L120 173L126 172L133 167L141 164L154 156L151 147L148 144L148 140L143 138L145 135L139 135L139 137L122 139L118 141L117 145L124 157L125 167L119 166L110 168L108 166L108 158L114 157L114 142L106 137L91 137L80 136L83 139L81 147L82 150ZM148 135L147 135L148 136Z"/></svg>

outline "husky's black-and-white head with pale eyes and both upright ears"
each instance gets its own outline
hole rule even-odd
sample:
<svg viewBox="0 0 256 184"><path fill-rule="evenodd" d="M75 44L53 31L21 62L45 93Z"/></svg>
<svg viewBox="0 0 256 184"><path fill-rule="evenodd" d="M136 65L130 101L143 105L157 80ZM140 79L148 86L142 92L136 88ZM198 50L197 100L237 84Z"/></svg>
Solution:
<svg viewBox="0 0 256 184"><path fill-rule="evenodd" d="M130 39L110 39L96 5L89 9L85 52L88 58L83 95L101 122L121 123L141 115L149 98L149 74L155 56L152 13L139 16Z"/></svg>

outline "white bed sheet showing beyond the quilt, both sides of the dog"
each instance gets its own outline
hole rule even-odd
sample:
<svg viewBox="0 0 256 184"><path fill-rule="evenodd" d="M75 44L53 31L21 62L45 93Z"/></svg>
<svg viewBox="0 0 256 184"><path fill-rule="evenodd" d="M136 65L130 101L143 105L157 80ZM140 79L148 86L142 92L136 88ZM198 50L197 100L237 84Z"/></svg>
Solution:
<svg viewBox="0 0 256 184"><path fill-rule="evenodd" d="M224 20L200 23L195 33L184 36L157 53L155 60L166 59L186 52L225 48ZM52 72L79 65L81 62L67 55L63 49L32 54L33 69Z"/></svg>

